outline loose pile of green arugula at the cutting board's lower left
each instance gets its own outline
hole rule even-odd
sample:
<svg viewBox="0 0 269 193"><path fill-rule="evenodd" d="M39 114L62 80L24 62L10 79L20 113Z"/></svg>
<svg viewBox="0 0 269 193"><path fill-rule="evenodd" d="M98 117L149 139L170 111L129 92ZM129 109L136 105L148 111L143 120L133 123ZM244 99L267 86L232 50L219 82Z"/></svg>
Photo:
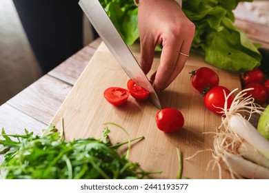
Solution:
<svg viewBox="0 0 269 193"><path fill-rule="evenodd" d="M120 156L110 143L106 127L100 139L65 141L50 125L41 136L6 134L2 129L0 152L6 152L0 166L2 179L142 179L149 176L138 163ZM138 138L141 139L141 138ZM137 140L137 139L134 139Z"/></svg>

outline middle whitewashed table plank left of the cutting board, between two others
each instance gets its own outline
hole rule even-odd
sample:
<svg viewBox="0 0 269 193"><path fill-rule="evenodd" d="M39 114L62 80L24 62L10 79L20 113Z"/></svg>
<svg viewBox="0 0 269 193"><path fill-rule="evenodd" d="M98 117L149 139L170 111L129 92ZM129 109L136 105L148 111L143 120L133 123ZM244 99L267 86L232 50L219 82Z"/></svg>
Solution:
<svg viewBox="0 0 269 193"><path fill-rule="evenodd" d="M48 124L70 90L70 85L45 75L7 103L28 116Z"/></svg>

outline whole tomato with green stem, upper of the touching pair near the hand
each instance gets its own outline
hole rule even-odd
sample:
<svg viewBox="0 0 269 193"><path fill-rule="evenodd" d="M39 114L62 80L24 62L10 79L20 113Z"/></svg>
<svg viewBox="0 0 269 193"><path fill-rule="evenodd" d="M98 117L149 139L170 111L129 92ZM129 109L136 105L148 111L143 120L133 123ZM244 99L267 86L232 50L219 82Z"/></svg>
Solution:
<svg viewBox="0 0 269 193"><path fill-rule="evenodd" d="M205 94L210 88L219 85L219 76L210 68L201 67L190 72L192 74L192 86L201 94Z"/></svg>

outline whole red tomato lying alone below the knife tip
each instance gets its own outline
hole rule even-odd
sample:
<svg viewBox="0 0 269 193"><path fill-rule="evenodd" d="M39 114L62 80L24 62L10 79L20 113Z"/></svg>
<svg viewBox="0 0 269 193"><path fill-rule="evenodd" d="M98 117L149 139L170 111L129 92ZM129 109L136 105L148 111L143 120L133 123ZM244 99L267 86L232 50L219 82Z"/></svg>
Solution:
<svg viewBox="0 0 269 193"><path fill-rule="evenodd" d="M163 132L176 132L184 125L184 117L181 112L174 108L164 108L156 114L156 123Z"/></svg>

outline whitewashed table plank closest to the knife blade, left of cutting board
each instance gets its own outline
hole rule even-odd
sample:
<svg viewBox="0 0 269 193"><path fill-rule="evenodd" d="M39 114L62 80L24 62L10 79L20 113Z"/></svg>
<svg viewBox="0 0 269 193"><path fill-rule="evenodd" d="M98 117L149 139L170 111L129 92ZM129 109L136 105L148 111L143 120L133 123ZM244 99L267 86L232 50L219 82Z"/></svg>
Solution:
<svg viewBox="0 0 269 193"><path fill-rule="evenodd" d="M93 45L95 44L97 43L94 43ZM63 61L63 63L48 72L48 74L57 79L61 79L66 83L74 85L95 51L96 48L92 48L92 46L88 45L79 50L79 52L66 61Z"/></svg>

